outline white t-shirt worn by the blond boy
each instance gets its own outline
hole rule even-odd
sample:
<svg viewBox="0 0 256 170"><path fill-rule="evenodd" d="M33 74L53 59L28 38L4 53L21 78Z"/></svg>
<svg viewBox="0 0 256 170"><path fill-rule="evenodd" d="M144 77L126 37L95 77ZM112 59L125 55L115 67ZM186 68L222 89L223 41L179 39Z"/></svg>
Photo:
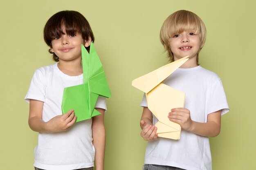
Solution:
<svg viewBox="0 0 256 170"><path fill-rule="evenodd" d="M193 121L207 122L207 115L218 110L229 111L220 77L201 66L178 68L164 82L186 93L184 108ZM146 97L141 106L147 107ZM153 124L157 123L153 115ZM209 138L181 130L179 140L159 137L147 144L145 164L173 166L186 170L211 170Z"/></svg>

